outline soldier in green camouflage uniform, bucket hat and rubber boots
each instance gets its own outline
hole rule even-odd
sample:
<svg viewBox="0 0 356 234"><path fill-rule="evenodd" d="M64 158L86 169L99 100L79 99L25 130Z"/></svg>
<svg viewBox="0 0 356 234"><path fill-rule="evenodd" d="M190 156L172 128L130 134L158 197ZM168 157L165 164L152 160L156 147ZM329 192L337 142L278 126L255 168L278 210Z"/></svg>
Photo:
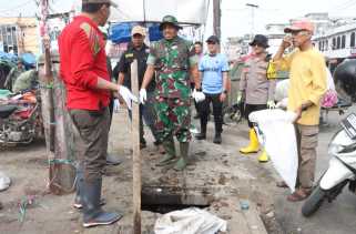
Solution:
<svg viewBox="0 0 356 234"><path fill-rule="evenodd" d="M144 102L146 100L145 88L156 71L156 131L166 151L166 155L157 165L166 165L177 160L174 165L176 171L182 171L186 166L191 141L190 72L195 80L196 90L200 90L201 83L193 43L177 37L180 29L174 17L163 18L160 30L163 31L164 39L151 47L148 69L140 90L140 100ZM180 159L174 147L174 135L180 142Z"/></svg>

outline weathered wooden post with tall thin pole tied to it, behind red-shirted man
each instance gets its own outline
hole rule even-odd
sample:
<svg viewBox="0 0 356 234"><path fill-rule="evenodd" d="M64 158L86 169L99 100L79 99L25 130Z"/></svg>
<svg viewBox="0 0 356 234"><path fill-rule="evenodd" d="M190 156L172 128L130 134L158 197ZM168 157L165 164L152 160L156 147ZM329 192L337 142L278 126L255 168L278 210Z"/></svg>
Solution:
<svg viewBox="0 0 356 234"><path fill-rule="evenodd" d="M71 124L64 109L65 91L58 72L53 75L52 57L50 52L49 1L41 0L41 37L43 40L44 55L40 62L40 82L42 96L42 116L45 130L45 142L49 159L49 189L51 193L63 194L71 192L74 183L75 169L72 165L73 153L69 150L70 138L65 138L68 126ZM59 57L57 55L59 69ZM55 79L54 79L55 77ZM55 99L54 99L55 95ZM54 108L55 106L55 108ZM67 122L64 124L64 122ZM67 131L65 131L67 128ZM69 134L67 134L69 135Z"/></svg>

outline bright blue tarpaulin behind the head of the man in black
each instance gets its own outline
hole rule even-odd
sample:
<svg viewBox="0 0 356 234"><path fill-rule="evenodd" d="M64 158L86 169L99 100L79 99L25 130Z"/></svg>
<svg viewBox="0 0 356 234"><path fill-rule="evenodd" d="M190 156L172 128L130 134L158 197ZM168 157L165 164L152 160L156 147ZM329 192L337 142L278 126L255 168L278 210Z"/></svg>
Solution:
<svg viewBox="0 0 356 234"><path fill-rule="evenodd" d="M110 27L109 30L109 40L113 43L125 43L131 41L131 30L134 26L139 23L125 22L125 23L115 23ZM150 41L157 41L163 38L162 32L160 31L159 23L148 23Z"/></svg>

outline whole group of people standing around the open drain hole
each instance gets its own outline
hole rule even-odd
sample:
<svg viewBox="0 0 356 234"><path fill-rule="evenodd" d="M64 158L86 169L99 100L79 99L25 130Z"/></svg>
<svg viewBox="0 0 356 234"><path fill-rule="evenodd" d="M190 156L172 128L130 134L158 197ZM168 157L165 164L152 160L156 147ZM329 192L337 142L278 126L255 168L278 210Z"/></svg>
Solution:
<svg viewBox="0 0 356 234"><path fill-rule="evenodd" d="M213 142L222 143L222 106L228 94L228 62L220 52L220 39L212 35L203 43L192 43L179 37L181 26L173 16L163 18L160 30L163 39L149 48L144 43L146 30L141 26L132 29L132 41L114 68L109 73L105 41L99 27L106 23L110 0L83 0L82 13L65 27L59 39L61 58L60 73L65 84L67 108L73 125L79 132L75 136L77 157L77 200L75 205L83 208L83 226L112 224L122 217L121 213L104 212L101 208L102 173L106 163L108 135L110 129L109 105L112 110L125 104L131 116L132 102L140 103L140 146L145 147L143 121L150 128L154 144L159 146L162 159L157 166L172 164L172 169L183 171L189 163L189 149L192 139L191 99L195 103L201 132L197 140L206 140L207 122L213 109L215 134ZM314 27L308 21L296 21L285 32L278 52L271 58L267 53L268 39L257 34L250 43L252 54L245 61L240 82L238 102L245 103L248 114L274 108L276 80L268 78L268 64L289 70L288 111L296 113L298 135L299 170L296 191L289 201L306 199L314 182L317 133L321 99L326 91L325 61L312 44ZM295 50L284 55L291 45ZM131 63L138 61L140 96L131 93ZM118 81L112 81L112 77ZM260 143L253 123L248 121L250 144L241 149L242 154L256 153ZM174 138L180 151L175 150ZM268 161L263 150L260 162ZM285 183L278 183L285 186Z"/></svg>

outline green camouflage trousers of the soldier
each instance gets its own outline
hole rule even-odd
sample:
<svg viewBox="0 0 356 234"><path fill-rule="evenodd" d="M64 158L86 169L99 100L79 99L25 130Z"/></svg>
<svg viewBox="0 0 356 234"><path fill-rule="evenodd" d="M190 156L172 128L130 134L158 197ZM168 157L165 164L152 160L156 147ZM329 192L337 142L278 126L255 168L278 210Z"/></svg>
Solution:
<svg viewBox="0 0 356 234"><path fill-rule="evenodd" d="M156 134L161 142L176 136L179 142L191 141L191 101L156 96Z"/></svg>

